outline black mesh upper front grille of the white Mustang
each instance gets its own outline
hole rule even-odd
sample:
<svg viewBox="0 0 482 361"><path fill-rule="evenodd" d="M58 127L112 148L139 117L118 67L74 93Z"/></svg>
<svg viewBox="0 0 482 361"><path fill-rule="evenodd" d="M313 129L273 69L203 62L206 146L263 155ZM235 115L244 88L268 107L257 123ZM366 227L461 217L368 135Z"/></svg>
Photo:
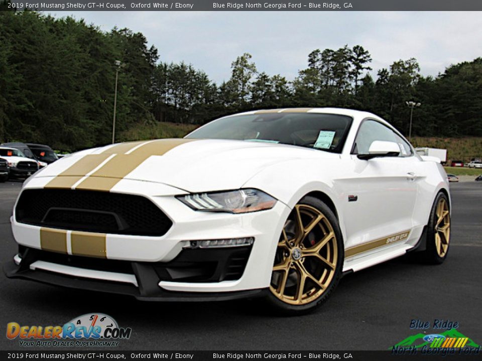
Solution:
<svg viewBox="0 0 482 361"><path fill-rule="evenodd" d="M137 236L163 236L171 220L147 198L80 190L25 190L16 220L35 226Z"/></svg>

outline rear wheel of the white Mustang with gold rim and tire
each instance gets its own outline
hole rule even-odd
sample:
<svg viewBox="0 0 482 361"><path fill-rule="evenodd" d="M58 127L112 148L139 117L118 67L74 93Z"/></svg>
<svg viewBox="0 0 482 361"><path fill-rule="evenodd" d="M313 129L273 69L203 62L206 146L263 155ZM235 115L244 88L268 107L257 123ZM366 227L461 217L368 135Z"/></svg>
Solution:
<svg viewBox="0 0 482 361"><path fill-rule="evenodd" d="M427 229L427 249L421 252L422 261L441 264L447 258L450 245L450 209L447 196L440 192L430 212Z"/></svg>

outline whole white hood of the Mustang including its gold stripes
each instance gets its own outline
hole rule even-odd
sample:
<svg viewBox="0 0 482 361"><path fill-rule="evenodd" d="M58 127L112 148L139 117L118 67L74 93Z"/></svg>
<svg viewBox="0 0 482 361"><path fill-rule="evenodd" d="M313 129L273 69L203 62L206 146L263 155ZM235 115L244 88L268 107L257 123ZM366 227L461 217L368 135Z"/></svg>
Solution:
<svg viewBox="0 0 482 361"><path fill-rule="evenodd" d="M296 158L339 155L268 142L158 139L74 153L52 163L38 176L56 178L51 187L72 188L75 184L74 188L98 187L105 191L120 179L133 179L163 183L187 192L209 192L238 189L265 167ZM276 176L289 176L291 171L287 169L286 174ZM69 178L72 179L66 182Z"/></svg>

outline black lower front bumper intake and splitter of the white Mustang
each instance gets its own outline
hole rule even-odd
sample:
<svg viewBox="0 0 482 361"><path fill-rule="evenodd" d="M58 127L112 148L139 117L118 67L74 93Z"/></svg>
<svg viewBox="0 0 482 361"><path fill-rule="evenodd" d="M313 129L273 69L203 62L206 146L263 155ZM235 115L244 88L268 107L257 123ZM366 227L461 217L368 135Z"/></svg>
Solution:
<svg viewBox="0 0 482 361"><path fill-rule="evenodd" d="M86 257L64 256L23 246L19 248L19 254L15 256L14 262L4 265L4 272L9 278L124 294L145 301L223 301L260 297L268 290L265 288L234 292L175 292L159 287L162 279L184 278L190 279L191 282L198 282L200 279L211 278L219 281L229 278L229 273L232 274L233 271L242 274L245 264L239 265L235 259L246 258L247 260L246 256L249 256L251 247L186 250L175 261L168 263L100 261ZM201 255L202 261L199 261L195 252L205 253ZM83 268L88 263L95 265ZM110 263L110 265L102 263ZM243 268L240 269L240 267Z"/></svg>

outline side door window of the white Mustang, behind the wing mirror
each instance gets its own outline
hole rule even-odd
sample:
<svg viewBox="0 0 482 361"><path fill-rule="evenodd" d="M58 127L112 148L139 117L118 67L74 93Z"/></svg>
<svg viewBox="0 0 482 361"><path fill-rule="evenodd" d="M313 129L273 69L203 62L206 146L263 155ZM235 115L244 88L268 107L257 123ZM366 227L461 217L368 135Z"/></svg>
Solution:
<svg viewBox="0 0 482 361"><path fill-rule="evenodd" d="M400 147L400 156L412 155L410 145L389 127L375 120L365 120L356 135L353 154L368 154L370 145L375 140L395 142Z"/></svg>

